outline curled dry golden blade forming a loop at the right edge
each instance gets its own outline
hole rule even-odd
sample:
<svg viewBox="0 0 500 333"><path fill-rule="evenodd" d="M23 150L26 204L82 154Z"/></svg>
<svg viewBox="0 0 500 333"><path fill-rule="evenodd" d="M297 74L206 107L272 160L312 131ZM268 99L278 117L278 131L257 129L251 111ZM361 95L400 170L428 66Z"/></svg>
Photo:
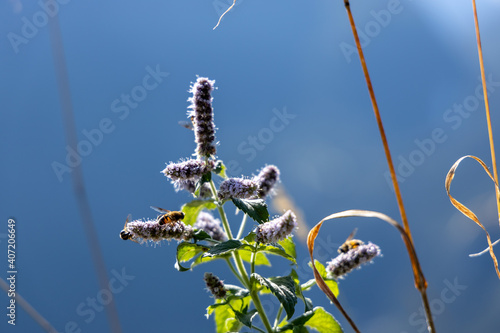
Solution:
<svg viewBox="0 0 500 333"><path fill-rule="evenodd" d="M460 164L460 162L462 162L466 158L472 158L472 159L476 160L479 164L481 164L484 171L486 171L488 176L490 176L491 180L493 180L493 182L495 183L495 189L498 192L498 184L495 181L495 178L491 174L490 170L488 170L488 167L486 166L486 164L480 158L478 158L476 156L466 155L466 156L462 156L461 158L459 158L458 161L456 161L455 164L453 164L450 171L448 171L448 174L446 175L446 180L445 180L446 193L448 194L448 197L450 198L450 201L453 204L453 206L455 206L456 209L458 209L462 214L467 216L469 219L476 222L476 224L478 226L480 226L481 229L483 229L484 232L486 233L486 240L488 241L488 249L490 251L490 256L491 256L491 259L493 259L493 264L495 265L496 273L498 275L498 278L500 279L500 271L498 270L498 261L497 261L497 258L495 256L495 252L493 252L493 244L491 243L490 234L488 233L488 231L486 231L486 228L482 225L482 223L479 222L479 219L477 218L476 214L474 214L469 208L465 207L462 203L460 203L457 199L455 199L450 194L451 182L452 182L453 178L455 177L455 172L458 168L458 165ZM499 204L500 204L500 202L497 202L497 205L499 205Z"/></svg>

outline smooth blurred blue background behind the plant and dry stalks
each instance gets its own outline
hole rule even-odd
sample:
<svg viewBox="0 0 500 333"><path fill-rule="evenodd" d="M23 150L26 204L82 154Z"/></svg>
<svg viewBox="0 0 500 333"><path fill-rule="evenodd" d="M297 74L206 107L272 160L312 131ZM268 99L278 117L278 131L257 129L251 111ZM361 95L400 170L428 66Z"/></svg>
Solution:
<svg viewBox="0 0 500 333"><path fill-rule="evenodd" d="M203 273L236 283L221 263L176 271L175 242L139 246L118 237L127 214L154 217L150 205L178 209L190 200L160 171L194 152L192 133L178 121L185 119L196 75L216 80L218 156L232 161L233 176L277 165L310 227L355 208L400 220L342 1L242 0L215 31L229 0L58 4L78 140L88 142L84 133L99 126L108 132L86 146L81 166L108 275L129 277L113 295L123 332L213 331L213 318L204 317L212 299ZM102 291L71 174L54 170L54 163L66 164L68 151L47 16L36 2L3 0L0 6L0 274L7 277L7 220L14 217L17 291L59 332L106 332L103 307L88 305ZM444 189L459 157L473 154L491 165L484 105L475 97L482 92L471 3L372 0L351 7L437 331L497 332L500 288L492 260L468 257L486 247L484 232L452 207ZM500 123L499 11L497 1L478 4L494 130ZM157 86L138 88L154 70L163 73ZM140 101L126 107L122 96L132 93ZM270 130L276 112L285 111L290 118L283 129ZM255 154L245 150L249 137L259 140ZM494 190L482 169L464 162L452 191L498 239ZM363 332L423 332L420 295L394 229L369 219L326 224L318 241L330 251L319 251L318 259L334 256L354 227L383 257L340 282L347 312ZM312 274L304 240L297 240L305 281ZM281 258L272 260L276 266L262 275L288 274ZM454 284L460 287L450 289ZM351 331L317 288L307 296ZM277 306L270 300L264 303L271 311ZM8 325L3 292L0 304L0 331L42 331L19 307L16 326Z"/></svg>

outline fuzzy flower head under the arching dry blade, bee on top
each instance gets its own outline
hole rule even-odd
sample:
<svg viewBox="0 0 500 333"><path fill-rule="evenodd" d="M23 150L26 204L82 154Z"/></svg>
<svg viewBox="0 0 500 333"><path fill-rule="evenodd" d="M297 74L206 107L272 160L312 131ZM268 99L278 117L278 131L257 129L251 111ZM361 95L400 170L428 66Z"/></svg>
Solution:
<svg viewBox="0 0 500 333"><path fill-rule="evenodd" d="M339 254L327 263L326 271L329 278L343 278L347 273L362 264L370 262L376 256L380 255L380 248L368 242L345 253Z"/></svg>

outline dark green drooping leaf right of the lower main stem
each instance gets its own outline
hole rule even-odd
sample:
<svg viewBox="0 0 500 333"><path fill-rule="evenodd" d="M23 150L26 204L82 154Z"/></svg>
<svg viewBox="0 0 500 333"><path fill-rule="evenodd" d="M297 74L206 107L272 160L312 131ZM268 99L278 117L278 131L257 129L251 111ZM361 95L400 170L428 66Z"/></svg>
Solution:
<svg viewBox="0 0 500 333"><path fill-rule="evenodd" d="M297 304L293 278L291 276L282 276L266 279L257 273L253 273L251 276L278 298L286 311L287 318L290 319L295 312L295 304Z"/></svg>

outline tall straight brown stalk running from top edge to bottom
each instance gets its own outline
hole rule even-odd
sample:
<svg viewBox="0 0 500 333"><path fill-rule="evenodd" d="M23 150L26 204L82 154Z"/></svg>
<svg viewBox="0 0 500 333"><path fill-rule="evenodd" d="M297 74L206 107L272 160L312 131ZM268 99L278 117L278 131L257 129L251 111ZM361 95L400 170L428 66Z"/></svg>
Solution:
<svg viewBox="0 0 500 333"><path fill-rule="evenodd" d="M425 280L424 274L422 272L422 269L420 268L420 265L418 264L418 261L415 260L416 256L411 255L412 250L414 249L413 238L411 236L410 226L408 224L408 218L406 217L406 211L405 211L404 204L403 204L403 197L401 196L401 191L399 189L399 184L398 184L398 180L396 177L396 172L394 170L394 164L392 162L391 152L389 150L389 144L387 142L387 137L385 135L384 125L382 123L382 118L380 116L380 112L378 109L377 100L375 98L375 92L373 90L372 82L370 79L370 74L368 73L368 67L366 65L363 50L361 48L361 43L359 41L358 32L356 30L356 25L354 24L354 18L353 18L352 13L351 13L351 6L349 4L349 0L344 0L344 5L345 5L345 8L347 10L349 22L351 24L352 34L353 34L354 40L356 42L356 46L357 46L358 53L359 53L359 59L361 61L361 67L363 68L363 73L365 76L366 85L368 87L368 92L370 94L370 99L372 102L373 111L375 113L375 118L377 120L377 125L378 125L379 132L380 132L380 137L382 139L382 144L384 146L385 157L387 159L387 164L389 165L389 171L391 173L392 185L394 186L394 192L396 193L396 200L398 202L399 212L401 214L401 220L403 221L403 227L404 227L404 230L406 231L406 234L408 236L408 241L405 241L405 245L406 245L406 250L410 254L410 260L411 260L412 269L413 269L413 277L415 279L415 288L417 288L417 290L420 291L420 294L422 296L422 302L423 302L424 308L426 310L428 330L429 330L429 332L433 333L436 330L434 327L434 322L432 319L432 314L430 312L429 301L428 301L427 293L426 293L427 281ZM498 195L498 193L497 193L497 195Z"/></svg>

